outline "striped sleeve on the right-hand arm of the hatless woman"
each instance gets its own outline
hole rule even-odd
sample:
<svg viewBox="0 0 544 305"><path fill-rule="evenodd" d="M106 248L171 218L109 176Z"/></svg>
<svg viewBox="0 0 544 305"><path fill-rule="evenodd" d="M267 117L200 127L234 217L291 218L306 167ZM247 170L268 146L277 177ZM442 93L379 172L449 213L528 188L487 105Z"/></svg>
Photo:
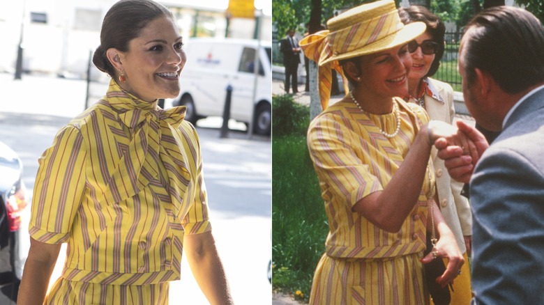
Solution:
<svg viewBox="0 0 544 305"><path fill-rule="evenodd" d="M199 234L206 233L211 230L211 223L209 221L209 206L208 206L208 194L206 192L206 184L204 183L204 173L202 171L202 154L200 150L200 143L195 127L188 124L190 130L184 131L188 137L187 143L192 148L185 148L187 152L190 150L196 152L196 154L190 154L194 159L191 160L192 164L195 164L195 171L192 171L194 175L195 188L190 192L190 208L188 213L183 218L182 225L186 234ZM183 127L182 127L183 128ZM189 129L189 128L187 128Z"/></svg>

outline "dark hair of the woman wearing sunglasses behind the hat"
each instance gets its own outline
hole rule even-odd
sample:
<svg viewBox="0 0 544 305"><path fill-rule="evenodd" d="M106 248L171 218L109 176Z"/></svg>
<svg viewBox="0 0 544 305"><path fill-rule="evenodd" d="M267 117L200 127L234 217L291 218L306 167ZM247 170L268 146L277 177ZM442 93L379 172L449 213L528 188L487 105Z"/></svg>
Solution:
<svg viewBox="0 0 544 305"><path fill-rule="evenodd" d="M444 34L446 33L446 26L444 22L435 14L431 13L430 10L423 6L409 6L408 8L399 8L398 15L400 20L404 24L409 24L411 22L423 22L427 26L425 30L432 37L432 41L437 42L438 49L435 54L435 60L432 61L429 68L429 72L425 77L432 77L438 70L440 66L440 60L444 55Z"/></svg>

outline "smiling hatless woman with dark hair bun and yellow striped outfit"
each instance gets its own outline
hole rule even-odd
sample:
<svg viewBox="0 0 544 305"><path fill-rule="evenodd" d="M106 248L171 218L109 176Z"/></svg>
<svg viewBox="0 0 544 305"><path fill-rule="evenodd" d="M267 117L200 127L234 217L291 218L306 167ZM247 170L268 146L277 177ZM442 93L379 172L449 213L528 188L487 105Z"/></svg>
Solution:
<svg viewBox="0 0 544 305"><path fill-rule="evenodd" d="M232 304L197 132L185 107L157 106L179 94L182 46L154 1L121 0L105 15L93 62L112 80L39 159L17 304L167 304L182 250L209 302ZM47 292L63 242L63 272Z"/></svg>

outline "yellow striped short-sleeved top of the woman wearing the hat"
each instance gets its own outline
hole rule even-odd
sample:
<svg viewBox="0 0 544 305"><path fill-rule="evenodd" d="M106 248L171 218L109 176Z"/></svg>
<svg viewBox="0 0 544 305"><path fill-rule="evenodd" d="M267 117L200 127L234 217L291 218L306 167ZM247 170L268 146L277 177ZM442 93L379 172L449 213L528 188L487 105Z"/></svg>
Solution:
<svg viewBox="0 0 544 305"><path fill-rule="evenodd" d="M353 205L361 198L384 189L408 153L418 126L428 122L428 116L421 107L407 104L396 97L395 102L399 105L401 127L398 136L393 139L386 138L378 127L393 132L396 127L395 114L366 114L349 99L326 109L310 123L308 130L308 148L322 189L330 230L326 239L326 256L333 260L370 262L379 268L373 272L392 272L387 262L399 256L421 255L425 249L428 202L431 200L428 194L431 193L430 187L435 185L432 164L429 163L431 179L423 182L418 203L398 233L381 230L364 215L352 212ZM326 265L330 264L335 263L326 262ZM380 264L386 267L379 267ZM421 263L418 266L418 272L423 272ZM315 281L323 281L321 273L331 272L327 268L317 269ZM405 269L394 269L387 275L404 280L406 272ZM414 281L420 281L421 276L414 277ZM413 286L423 287L423 284L413 283ZM340 289L333 281L326 282L326 285L322 283L319 290L312 290L312 296L340 293L332 292L330 289L333 288ZM322 300L322 297L317 299ZM400 302L390 304L410 304L403 299L404 296L400 295ZM328 304L345 303L335 299Z"/></svg>

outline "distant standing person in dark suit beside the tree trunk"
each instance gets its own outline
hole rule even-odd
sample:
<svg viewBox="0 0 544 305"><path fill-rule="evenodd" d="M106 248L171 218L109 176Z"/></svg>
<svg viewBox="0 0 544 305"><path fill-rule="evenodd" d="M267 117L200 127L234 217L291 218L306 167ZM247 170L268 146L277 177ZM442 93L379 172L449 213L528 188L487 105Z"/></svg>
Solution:
<svg viewBox="0 0 544 305"><path fill-rule="evenodd" d="M287 31L287 36L280 42L280 50L283 54L285 66L285 93L292 88L293 93L299 92L299 63L301 63L301 48L299 40L294 36L294 29Z"/></svg>

